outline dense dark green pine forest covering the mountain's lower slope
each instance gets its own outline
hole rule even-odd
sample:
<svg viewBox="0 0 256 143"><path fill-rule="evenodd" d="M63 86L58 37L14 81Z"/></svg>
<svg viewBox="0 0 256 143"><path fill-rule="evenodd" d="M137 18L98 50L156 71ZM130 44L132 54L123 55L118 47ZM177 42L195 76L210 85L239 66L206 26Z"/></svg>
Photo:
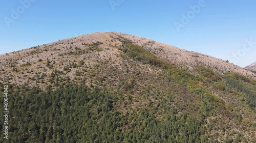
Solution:
<svg viewBox="0 0 256 143"><path fill-rule="evenodd" d="M130 110L124 116L114 107L119 93L89 90L85 85L70 84L46 92L26 87L18 90L9 98L9 142L210 141L203 119L179 115L164 104L162 110L168 115L159 120L147 108Z"/></svg>

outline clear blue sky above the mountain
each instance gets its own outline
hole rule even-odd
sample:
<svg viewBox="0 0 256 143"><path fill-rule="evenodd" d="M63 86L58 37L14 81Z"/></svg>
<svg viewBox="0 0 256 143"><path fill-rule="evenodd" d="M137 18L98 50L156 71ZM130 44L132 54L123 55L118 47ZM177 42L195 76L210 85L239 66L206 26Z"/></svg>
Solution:
<svg viewBox="0 0 256 143"><path fill-rule="evenodd" d="M26 1L29 5L21 3ZM256 42L253 0L205 0L200 6L201 0L30 1L1 2L0 53L82 34L115 31L209 54L241 67L256 62L256 43L243 49L245 39ZM190 6L195 5L200 11L192 15ZM184 24L182 14L188 13L189 23ZM179 32L175 21L183 24Z"/></svg>

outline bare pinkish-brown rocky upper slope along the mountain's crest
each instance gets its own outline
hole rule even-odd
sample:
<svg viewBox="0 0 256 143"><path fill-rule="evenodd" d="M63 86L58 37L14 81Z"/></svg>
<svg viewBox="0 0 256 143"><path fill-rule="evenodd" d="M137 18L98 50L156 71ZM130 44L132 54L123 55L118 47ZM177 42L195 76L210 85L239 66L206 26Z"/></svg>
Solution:
<svg viewBox="0 0 256 143"><path fill-rule="evenodd" d="M1 54L0 70L2 70L2 73L5 71L5 74L1 74L0 79L17 84L31 82L28 80L27 76L32 77L36 72L46 70L45 64L47 64L47 59L50 62L54 62L58 69L63 69L66 66L65 64L69 63L69 61L84 60L84 63L95 65L98 60L106 59L117 61L115 66L122 68L120 65L120 58L118 57L118 54L120 54L118 47L121 45L121 42L118 41L117 38L120 37L131 40L133 43L154 53L158 58L173 63L180 68L190 70L191 72L194 71L195 67L202 65L221 73L236 72L246 77L256 79L255 73L212 56L193 51L186 51L151 39L116 32L81 35L49 44L31 47L29 49ZM100 44L99 52L91 51L87 55L78 56L69 54L77 50L86 49L88 47L87 45L95 42L102 42L102 44ZM31 66L25 67L26 64L31 64ZM26 72L16 70L16 67L20 66L24 67L22 69L26 69ZM30 72L29 70L32 70L33 72ZM24 75L20 76L19 74L14 74L14 71L16 71L16 73L20 72ZM74 73L75 71L72 71L68 75L73 78Z"/></svg>

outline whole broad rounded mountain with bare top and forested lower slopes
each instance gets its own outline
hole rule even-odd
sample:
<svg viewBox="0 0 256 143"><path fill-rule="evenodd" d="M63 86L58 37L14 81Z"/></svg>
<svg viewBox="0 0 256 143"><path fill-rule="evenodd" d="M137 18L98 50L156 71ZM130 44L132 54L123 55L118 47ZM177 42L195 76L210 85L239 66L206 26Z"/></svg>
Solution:
<svg viewBox="0 0 256 143"><path fill-rule="evenodd" d="M108 32L0 61L12 142L256 141L256 74L208 55Z"/></svg>

